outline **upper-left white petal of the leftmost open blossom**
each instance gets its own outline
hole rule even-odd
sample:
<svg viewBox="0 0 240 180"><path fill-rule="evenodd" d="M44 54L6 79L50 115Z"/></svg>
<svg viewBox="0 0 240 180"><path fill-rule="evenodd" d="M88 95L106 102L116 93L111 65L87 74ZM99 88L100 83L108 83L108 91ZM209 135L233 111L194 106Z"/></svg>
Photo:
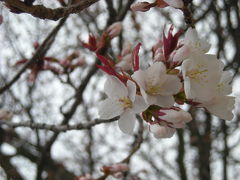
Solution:
<svg viewBox="0 0 240 180"><path fill-rule="evenodd" d="M105 84L104 91L111 98L122 98L128 96L127 87L116 77L108 76Z"/></svg>

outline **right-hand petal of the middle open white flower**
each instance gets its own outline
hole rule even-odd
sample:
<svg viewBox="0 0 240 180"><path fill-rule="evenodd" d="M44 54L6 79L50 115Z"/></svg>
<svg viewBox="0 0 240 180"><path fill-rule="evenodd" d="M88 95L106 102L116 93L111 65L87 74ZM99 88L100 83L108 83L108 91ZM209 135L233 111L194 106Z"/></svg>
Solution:
<svg viewBox="0 0 240 180"><path fill-rule="evenodd" d="M166 75L166 80L162 84L160 94L163 96L169 96L177 94L182 88L182 83L180 79L175 75Z"/></svg>

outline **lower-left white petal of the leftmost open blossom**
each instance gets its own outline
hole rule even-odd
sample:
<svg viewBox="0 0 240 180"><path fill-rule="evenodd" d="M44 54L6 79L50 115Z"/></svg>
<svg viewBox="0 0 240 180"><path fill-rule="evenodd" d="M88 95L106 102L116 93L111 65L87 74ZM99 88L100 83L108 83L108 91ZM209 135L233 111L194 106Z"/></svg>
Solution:
<svg viewBox="0 0 240 180"><path fill-rule="evenodd" d="M123 113L123 106L117 99L107 98L98 105L100 119L111 119Z"/></svg>

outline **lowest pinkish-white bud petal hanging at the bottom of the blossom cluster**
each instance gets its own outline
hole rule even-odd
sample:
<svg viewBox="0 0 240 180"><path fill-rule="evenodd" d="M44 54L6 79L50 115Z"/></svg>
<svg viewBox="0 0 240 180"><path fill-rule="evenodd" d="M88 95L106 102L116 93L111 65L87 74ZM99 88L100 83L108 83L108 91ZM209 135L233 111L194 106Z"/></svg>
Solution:
<svg viewBox="0 0 240 180"><path fill-rule="evenodd" d="M160 126L157 124L150 125L149 129L154 134L155 138L171 138L173 134L176 132L175 128Z"/></svg>

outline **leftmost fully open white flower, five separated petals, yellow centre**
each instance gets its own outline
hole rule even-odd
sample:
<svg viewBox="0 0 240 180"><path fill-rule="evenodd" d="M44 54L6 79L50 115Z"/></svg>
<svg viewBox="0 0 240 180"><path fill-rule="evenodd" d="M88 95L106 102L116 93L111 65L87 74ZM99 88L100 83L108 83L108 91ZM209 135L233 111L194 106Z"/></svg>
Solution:
<svg viewBox="0 0 240 180"><path fill-rule="evenodd" d="M136 95L136 84L127 81L127 87L116 77L109 76L104 85L108 98L98 106L98 114L102 119L119 116L119 128L126 134L132 134L136 113L144 111L148 106L143 98Z"/></svg>

